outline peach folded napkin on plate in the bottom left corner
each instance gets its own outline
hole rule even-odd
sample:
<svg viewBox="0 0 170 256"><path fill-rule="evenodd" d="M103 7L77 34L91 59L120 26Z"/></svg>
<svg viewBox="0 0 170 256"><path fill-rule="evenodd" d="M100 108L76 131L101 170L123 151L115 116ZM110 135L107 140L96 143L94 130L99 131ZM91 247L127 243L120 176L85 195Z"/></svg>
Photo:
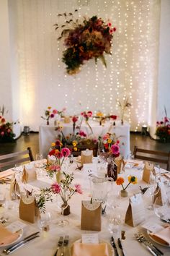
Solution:
<svg viewBox="0 0 170 256"><path fill-rule="evenodd" d="M19 237L19 234L12 233L8 229L5 229L4 226L0 225L0 245L11 244L16 241Z"/></svg>

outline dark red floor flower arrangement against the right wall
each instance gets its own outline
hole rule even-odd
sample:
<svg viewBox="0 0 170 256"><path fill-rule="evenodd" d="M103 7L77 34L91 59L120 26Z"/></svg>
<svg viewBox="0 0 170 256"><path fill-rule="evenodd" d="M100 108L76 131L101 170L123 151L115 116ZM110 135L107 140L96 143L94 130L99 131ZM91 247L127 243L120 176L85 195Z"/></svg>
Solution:
<svg viewBox="0 0 170 256"><path fill-rule="evenodd" d="M162 142L170 142L170 119L167 117L166 108L164 121L156 122L156 136L158 136Z"/></svg>

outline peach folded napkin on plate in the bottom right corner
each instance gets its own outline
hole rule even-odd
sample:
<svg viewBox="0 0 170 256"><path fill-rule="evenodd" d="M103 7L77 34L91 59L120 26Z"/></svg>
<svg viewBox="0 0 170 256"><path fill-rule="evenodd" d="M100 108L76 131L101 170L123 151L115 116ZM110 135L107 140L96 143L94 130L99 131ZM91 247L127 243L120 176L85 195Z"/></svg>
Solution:
<svg viewBox="0 0 170 256"><path fill-rule="evenodd" d="M161 229L161 231L151 233L149 235L158 243L170 245L170 226L166 227L165 229Z"/></svg>

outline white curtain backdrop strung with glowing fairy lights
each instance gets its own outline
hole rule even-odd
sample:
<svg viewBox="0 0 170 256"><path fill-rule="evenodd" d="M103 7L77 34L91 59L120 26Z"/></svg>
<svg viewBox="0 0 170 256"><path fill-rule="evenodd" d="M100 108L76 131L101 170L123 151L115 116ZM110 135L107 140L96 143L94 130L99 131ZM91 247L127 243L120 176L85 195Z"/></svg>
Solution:
<svg viewBox="0 0 170 256"><path fill-rule="evenodd" d="M117 101L130 97L126 116L131 130L153 122L156 112L153 92L157 84L158 0L17 0L17 51L19 52L19 93L22 123L34 130L42 122L47 106L68 114L102 111L117 114ZM78 9L78 12L74 12ZM107 68L101 61L87 61L76 75L66 73L62 62L63 41L53 26L64 23L57 14L72 12L75 18L97 15L117 28Z"/></svg>

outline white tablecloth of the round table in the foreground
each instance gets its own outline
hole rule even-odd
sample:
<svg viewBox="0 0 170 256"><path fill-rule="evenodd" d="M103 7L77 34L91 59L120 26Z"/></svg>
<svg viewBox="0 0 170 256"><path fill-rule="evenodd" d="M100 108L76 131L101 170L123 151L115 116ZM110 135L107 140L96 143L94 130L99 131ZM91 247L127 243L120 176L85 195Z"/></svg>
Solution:
<svg viewBox="0 0 170 256"><path fill-rule="evenodd" d="M71 170L75 170L76 163L73 163L71 166ZM141 171L138 171L137 169L128 169L123 176L125 177L125 180L127 182L127 176L128 174L135 174L138 176L139 182L138 184L130 184L130 187L128 188L129 196L132 196L133 193L139 192L139 185L142 187L146 187L146 183L142 182L140 180ZM81 183L84 187L86 183L86 180L84 180L84 171L74 171L75 179L73 182L75 183ZM47 182L47 179L45 179L45 182ZM4 185L0 185L0 189L3 189ZM128 208L129 203L129 197L123 198L118 195L118 192L120 191L121 187L117 186L115 183L112 184L112 192L115 192L115 200L117 200L118 204L122 207L123 213L125 213L126 209ZM170 189L170 187L167 187L167 189ZM143 200L145 205L148 204L148 202L151 201L151 197L148 196L149 194L146 192L145 195L143 195ZM13 252L12 255L16 256L53 256L55 249L57 247L59 236L70 236L70 243L71 245L74 241L81 238L81 234L86 233L86 231L81 231L80 229L80 223L81 223L81 200L89 199L89 189L86 187L84 189L84 194L79 195L75 194L69 201L69 205L71 206L71 214L69 216L61 216L60 211L57 207L57 202L50 203L48 202L47 210L50 211L52 215L52 223L50 223L50 231L44 236L43 233L40 234L40 238L37 238L33 240L32 242L28 243L24 247L21 247L17 249L17 251ZM1 216L9 216L9 222L19 220L19 213L17 209L14 210L4 210L1 209ZM60 219L66 219L69 221L69 225L65 227L58 227L56 225L56 222ZM160 223L162 224L158 217L156 217L152 210L146 210L146 221L151 221L154 223ZM37 223L31 224L24 221L24 223L27 224L27 227L24 228L24 235L27 236L28 234L32 234L34 231L38 230ZM138 256L149 256L151 255L150 252L147 251L145 247L143 247L142 244L137 242L134 238L134 234L137 231L141 231L141 227L137 226L135 228L128 226L127 224L122 224L121 226L122 230L126 231L126 239L122 241L122 246L125 251L126 256L132 256L132 255L138 255ZM143 233L146 234L146 231L143 230ZM89 231L89 233L91 233ZM111 234L108 230L108 223L107 223L107 216L102 216L102 231L98 232L99 239L105 240L106 242L109 242L109 239L111 237ZM161 249L161 251L164 252L165 256L168 256L170 253L170 247L163 247L159 244L156 244L156 246ZM120 255L121 252L120 252ZM79 255L81 256L81 255Z"/></svg>

